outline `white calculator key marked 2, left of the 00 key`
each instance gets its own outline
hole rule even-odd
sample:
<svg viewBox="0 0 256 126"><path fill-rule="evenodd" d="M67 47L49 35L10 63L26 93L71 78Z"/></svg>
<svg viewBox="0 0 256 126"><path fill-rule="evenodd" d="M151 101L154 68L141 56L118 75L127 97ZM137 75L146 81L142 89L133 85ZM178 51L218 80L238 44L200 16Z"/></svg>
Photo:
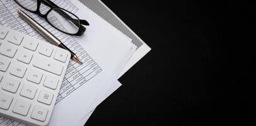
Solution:
<svg viewBox="0 0 256 126"><path fill-rule="evenodd" d="M32 99L35 97L35 93L37 93L37 88L30 84L24 84L23 88L21 89L20 95L26 98Z"/></svg>

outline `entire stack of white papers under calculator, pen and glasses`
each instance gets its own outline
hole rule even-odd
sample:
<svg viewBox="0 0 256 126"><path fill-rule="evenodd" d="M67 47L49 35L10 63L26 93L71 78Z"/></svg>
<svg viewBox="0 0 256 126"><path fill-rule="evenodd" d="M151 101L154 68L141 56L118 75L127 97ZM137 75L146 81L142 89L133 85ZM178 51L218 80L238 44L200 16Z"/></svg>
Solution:
<svg viewBox="0 0 256 126"><path fill-rule="evenodd" d="M145 43L138 48L132 43L131 38L79 1L52 0L52 2L76 14L80 19L87 20L90 26L82 37L73 37L54 30L37 14L26 11L38 23L52 31L83 61L83 64L72 60L69 62L49 125L84 125L96 106L121 86L117 79L150 48ZM16 13L18 9L22 8L15 1L0 0L0 24L45 40L30 25L21 20ZM0 117L0 126L2 125L24 124Z"/></svg>

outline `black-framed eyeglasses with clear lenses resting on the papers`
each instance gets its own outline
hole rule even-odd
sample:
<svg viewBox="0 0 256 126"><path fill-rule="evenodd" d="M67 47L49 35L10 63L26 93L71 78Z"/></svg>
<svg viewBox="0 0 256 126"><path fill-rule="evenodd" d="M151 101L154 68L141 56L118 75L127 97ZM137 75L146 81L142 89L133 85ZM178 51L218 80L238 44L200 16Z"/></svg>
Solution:
<svg viewBox="0 0 256 126"><path fill-rule="evenodd" d="M86 28L83 25L90 25L86 20L79 20L78 16L59 8L50 0L15 0L22 8L44 18L50 25L68 35L83 35Z"/></svg>

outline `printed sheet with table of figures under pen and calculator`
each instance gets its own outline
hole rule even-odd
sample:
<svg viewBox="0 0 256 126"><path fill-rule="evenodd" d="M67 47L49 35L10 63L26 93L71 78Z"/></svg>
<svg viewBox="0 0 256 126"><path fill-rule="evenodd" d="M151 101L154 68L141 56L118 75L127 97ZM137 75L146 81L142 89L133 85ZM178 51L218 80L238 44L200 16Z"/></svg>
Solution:
<svg viewBox="0 0 256 126"><path fill-rule="evenodd" d="M62 1L64 3L64 1ZM68 6L68 4L66 4ZM15 1L6 1L1 0L0 3L0 23L1 25L8 26L14 30L20 31L22 33L28 34L32 37L36 37L40 40L45 40L42 35L40 35L37 31L35 31L32 26L28 25L24 20L22 20L17 13L17 10L21 9L21 7L15 3ZM73 11L77 11L77 9L73 9ZM56 37L60 38L61 42L67 45L69 49L71 49L78 57L82 60L83 64L79 64L78 62L71 61L69 62L66 76L64 77L64 81L62 82L61 91L57 98L57 103L61 101L63 98L68 96L74 90L78 89L79 86L86 83L86 81L90 80L91 77L96 76L98 72L102 71L102 69L96 64L96 62L90 57L90 55L78 44L78 42L71 36L66 35L47 23L46 20L37 16L37 14L28 13L32 16L33 19L38 21L42 26L47 28L51 33L53 33Z"/></svg>

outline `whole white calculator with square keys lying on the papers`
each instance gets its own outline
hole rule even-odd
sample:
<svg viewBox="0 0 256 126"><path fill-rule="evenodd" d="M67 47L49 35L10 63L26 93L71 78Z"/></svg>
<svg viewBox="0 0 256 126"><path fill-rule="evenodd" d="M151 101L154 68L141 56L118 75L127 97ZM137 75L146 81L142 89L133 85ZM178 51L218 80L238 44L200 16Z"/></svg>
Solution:
<svg viewBox="0 0 256 126"><path fill-rule="evenodd" d="M0 25L0 115L47 125L71 54Z"/></svg>

